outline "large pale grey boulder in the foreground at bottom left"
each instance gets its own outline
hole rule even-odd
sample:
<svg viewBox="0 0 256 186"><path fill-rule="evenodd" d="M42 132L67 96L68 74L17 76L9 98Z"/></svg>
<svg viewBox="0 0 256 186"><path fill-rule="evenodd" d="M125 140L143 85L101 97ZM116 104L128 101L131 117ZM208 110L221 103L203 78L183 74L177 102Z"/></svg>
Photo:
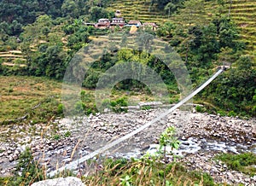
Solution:
<svg viewBox="0 0 256 186"><path fill-rule="evenodd" d="M32 183L32 186L84 186L84 183L78 177L60 177L55 179L48 179L38 183Z"/></svg>

